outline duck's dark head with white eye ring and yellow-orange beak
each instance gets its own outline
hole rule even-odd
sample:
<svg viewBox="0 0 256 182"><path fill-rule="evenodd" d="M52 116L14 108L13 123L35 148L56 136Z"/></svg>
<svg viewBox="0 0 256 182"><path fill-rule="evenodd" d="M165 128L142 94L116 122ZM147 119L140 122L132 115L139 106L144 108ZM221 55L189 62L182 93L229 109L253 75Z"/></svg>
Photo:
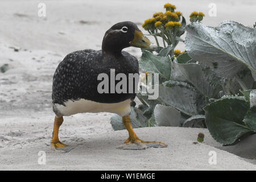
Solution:
<svg viewBox="0 0 256 182"><path fill-rule="evenodd" d="M130 46L151 50L156 48L133 22L114 24L106 31L102 41L103 52L121 52L123 48Z"/></svg>

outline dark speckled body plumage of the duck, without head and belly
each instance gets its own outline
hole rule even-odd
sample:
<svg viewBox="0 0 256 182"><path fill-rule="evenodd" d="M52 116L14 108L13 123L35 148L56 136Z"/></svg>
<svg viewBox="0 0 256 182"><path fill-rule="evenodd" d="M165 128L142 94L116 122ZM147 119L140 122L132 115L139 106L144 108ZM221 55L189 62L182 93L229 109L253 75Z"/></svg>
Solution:
<svg viewBox="0 0 256 182"><path fill-rule="evenodd" d="M128 73L139 72L138 60L125 51L121 55L102 54L92 49L69 53L53 76L53 104L64 105L65 101L80 98L101 103L133 100L135 93L98 93L97 85L101 82L97 80L98 74L106 73L110 78L110 69L115 69L115 75L125 73L128 77Z"/></svg>

